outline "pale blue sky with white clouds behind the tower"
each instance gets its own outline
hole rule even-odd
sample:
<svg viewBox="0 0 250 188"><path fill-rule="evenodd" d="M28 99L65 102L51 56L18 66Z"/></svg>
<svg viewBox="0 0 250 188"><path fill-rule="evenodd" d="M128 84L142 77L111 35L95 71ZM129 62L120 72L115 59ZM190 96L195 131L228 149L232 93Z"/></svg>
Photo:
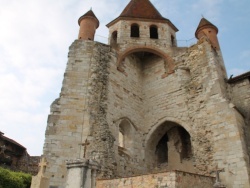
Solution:
<svg viewBox="0 0 250 188"><path fill-rule="evenodd" d="M91 7L107 43L106 24L129 0L0 0L0 131L41 155L50 104L59 96L78 18ZM202 15L219 28L228 75L250 71L249 0L151 0L189 44ZM184 41L182 41L184 40ZM192 40L191 40L192 41Z"/></svg>

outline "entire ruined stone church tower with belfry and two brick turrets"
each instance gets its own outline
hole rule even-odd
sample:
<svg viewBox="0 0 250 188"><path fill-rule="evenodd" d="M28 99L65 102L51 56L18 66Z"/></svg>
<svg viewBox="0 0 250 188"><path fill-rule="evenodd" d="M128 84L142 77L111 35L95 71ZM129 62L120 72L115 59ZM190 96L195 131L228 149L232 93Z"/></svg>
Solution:
<svg viewBox="0 0 250 188"><path fill-rule="evenodd" d="M46 129L51 187L64 186L66 160L83 157L99 178L218 168L227 187L249 187L250 72L227 79L215 25L202 18L197 44L178 47L178 29L149 0L107 24L108 45L94 41L92 10L78 23Z"/></svg>

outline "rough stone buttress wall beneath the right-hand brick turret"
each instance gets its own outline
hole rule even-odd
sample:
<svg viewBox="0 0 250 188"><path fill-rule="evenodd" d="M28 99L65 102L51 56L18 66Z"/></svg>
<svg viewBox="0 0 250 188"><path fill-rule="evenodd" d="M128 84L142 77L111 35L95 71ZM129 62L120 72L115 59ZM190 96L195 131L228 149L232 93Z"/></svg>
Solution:
<svg viewBox="0 0 250 188"><path fill-rule="evenodd" d="M209 172L218 165L226 170L222 177L228 187L248 187L244 122L229 105L222 58L206 41L191 47L188 54L184 66L190 70L191 79L185 89L191 126L196 131L192 138L196 167ZM235 167L234 175L231 165Z"/></svg>

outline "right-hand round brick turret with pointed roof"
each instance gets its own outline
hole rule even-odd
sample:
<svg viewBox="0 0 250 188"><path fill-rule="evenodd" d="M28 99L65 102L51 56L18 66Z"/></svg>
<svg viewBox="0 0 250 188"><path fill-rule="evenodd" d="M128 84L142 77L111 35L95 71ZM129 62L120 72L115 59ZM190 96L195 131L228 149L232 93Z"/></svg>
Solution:
<svg viewBox="0 0 250 188"><path fill-rule="evenodd" d="M207 37L210 40L212 46L215 49L220 50L220 45L217 38L218 31L219 30L215 25L213 25L207 19L202 18L196 29L195 37L197 39L201 39L202 37Z"/></svg>

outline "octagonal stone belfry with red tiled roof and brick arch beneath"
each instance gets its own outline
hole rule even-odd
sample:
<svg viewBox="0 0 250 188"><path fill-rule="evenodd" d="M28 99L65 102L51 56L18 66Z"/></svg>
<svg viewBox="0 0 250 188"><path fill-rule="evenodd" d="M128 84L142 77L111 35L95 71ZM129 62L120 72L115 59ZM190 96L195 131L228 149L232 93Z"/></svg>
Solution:
<svg viewBox="0 0 250 188"><path fill-rule="evenodd" d="M123 71L121 62L134 52L154 53L166 61L166 73L172 72L170 55L176 47L178 29L164 18L149 0L132 0L122 13L107 24L109 44L119 51L118 69Z"/></svg>

